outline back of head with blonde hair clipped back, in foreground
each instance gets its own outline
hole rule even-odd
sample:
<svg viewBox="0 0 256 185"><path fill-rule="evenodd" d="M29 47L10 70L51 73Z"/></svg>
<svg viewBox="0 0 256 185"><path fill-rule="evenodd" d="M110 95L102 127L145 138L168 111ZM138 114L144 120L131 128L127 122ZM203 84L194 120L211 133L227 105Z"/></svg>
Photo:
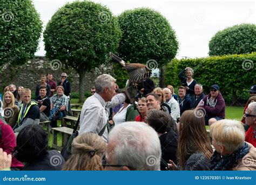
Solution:
<svg viewBox="0 0 256 185"><path fill-rule="evenodd" d="M62 170L103 170L106 143L95 133L78 135L72 142L72 155Z"/></svg>

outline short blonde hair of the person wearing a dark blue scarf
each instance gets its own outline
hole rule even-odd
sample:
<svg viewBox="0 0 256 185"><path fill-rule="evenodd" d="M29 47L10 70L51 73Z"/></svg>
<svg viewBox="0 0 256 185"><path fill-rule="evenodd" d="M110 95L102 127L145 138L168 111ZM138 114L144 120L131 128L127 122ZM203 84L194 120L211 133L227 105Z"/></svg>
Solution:
<svg viewBox="0 0 256 185"><path fill-rule="evenodd" d="M233 153L240 149L245 141L245 129L237 120L219 120L210 127L212 140L218 145L223 145L226 150Z"/></svg>

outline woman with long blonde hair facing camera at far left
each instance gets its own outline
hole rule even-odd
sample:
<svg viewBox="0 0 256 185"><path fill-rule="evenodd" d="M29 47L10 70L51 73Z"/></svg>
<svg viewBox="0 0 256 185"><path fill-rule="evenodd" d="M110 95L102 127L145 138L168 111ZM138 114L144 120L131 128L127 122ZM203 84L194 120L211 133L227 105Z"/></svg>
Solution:
<svg viewBox="0 0 256 185"><path fill-rule="evenodd" d="M12 128L18 120L19 108L15 105L14 94L11 91L6 91L3 97L4 119Z"/></svg>

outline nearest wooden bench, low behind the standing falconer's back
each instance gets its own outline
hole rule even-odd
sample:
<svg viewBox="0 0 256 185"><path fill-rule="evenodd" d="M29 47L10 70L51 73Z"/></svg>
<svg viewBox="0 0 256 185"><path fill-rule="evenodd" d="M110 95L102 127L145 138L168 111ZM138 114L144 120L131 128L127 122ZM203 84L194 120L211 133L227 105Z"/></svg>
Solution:
<svg viewBox="0 0 256 185"><path fill-rule="evenodd" d="M58 146L58 133L62 133L62 145ZM63 146L66 145L70 135L72 135L73 129L68 127L56 127L52 128L52 148L62 150Z"/></svg>

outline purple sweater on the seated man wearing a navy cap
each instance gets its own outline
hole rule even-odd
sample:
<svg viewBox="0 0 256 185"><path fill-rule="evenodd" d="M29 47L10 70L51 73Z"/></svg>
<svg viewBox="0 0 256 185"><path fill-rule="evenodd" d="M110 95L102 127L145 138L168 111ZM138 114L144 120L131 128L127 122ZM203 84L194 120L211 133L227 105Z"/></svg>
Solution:
<svg viewBox="0 0 256 185"><path fill-rule="evenodd" d="M204 108L206 111L206 116L209 118L213 117L221 117L225 118L225 100L221 93L217 95L217 97L214 99L215 106L211 107L209 105L209 99L211 98L211 93L206 95L203 98L203 102L200 102L200 107Z"/></svg>

